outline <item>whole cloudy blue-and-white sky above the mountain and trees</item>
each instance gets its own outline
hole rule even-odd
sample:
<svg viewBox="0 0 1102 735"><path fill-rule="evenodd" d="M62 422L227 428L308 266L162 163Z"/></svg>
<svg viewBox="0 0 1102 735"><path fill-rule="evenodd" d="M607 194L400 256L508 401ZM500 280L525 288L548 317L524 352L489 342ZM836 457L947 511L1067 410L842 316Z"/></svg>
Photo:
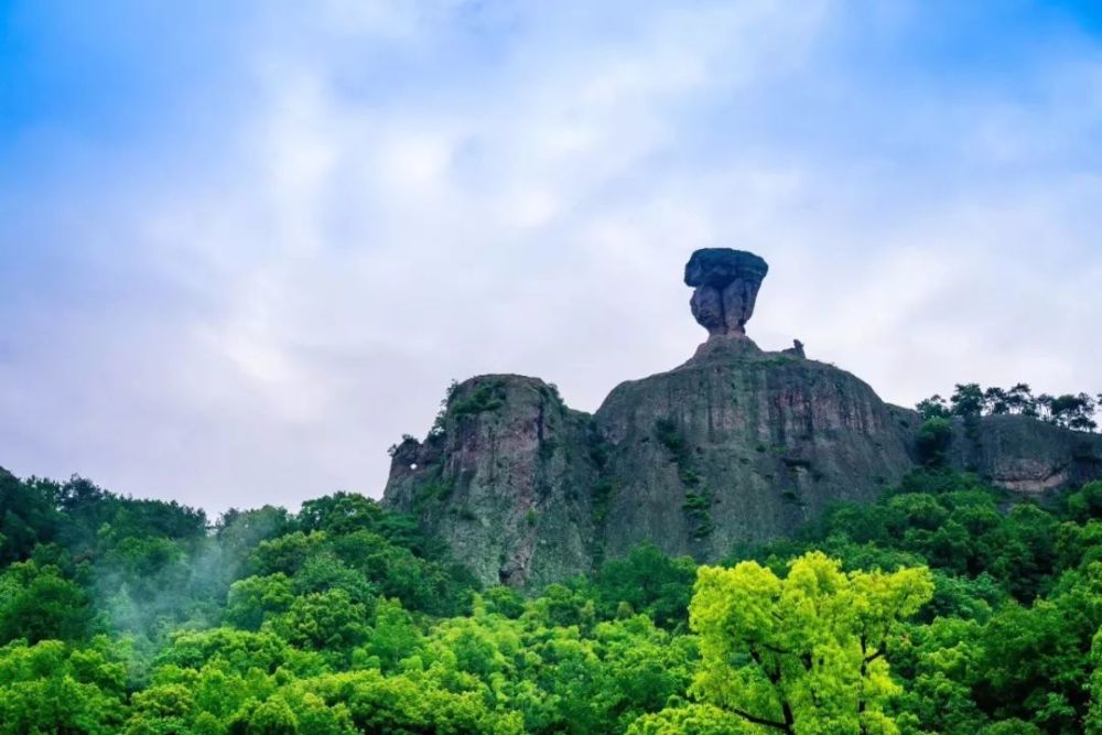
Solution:
<svg viewBox="0 0 1102 735"><path fill-rule="evenodd" d="M1102 6L0 0L0 466L378 497L452 379L748 325L888 401L1102 391Z"/></svg>

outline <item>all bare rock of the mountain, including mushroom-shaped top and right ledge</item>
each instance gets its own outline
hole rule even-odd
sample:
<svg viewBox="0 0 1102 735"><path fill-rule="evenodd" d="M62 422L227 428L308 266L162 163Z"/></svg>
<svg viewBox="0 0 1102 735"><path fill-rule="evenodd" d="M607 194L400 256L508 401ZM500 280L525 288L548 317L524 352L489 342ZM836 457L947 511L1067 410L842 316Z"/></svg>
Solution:
<svg viewBox="0 0 1102 735"><path fill-rule="evenodd" d="M684 280L707 342L593 415L536 378L454 386L428 437L395 447L383 501L484 582L542 584L645 541L715 560L832 500L873 499L916 466L920 418L798 342L764 352L746 337L767 272L752 253L694 253ZM1102 477L1102 436L993 417L959 422L948 457L1038 493Z"/></svg>

